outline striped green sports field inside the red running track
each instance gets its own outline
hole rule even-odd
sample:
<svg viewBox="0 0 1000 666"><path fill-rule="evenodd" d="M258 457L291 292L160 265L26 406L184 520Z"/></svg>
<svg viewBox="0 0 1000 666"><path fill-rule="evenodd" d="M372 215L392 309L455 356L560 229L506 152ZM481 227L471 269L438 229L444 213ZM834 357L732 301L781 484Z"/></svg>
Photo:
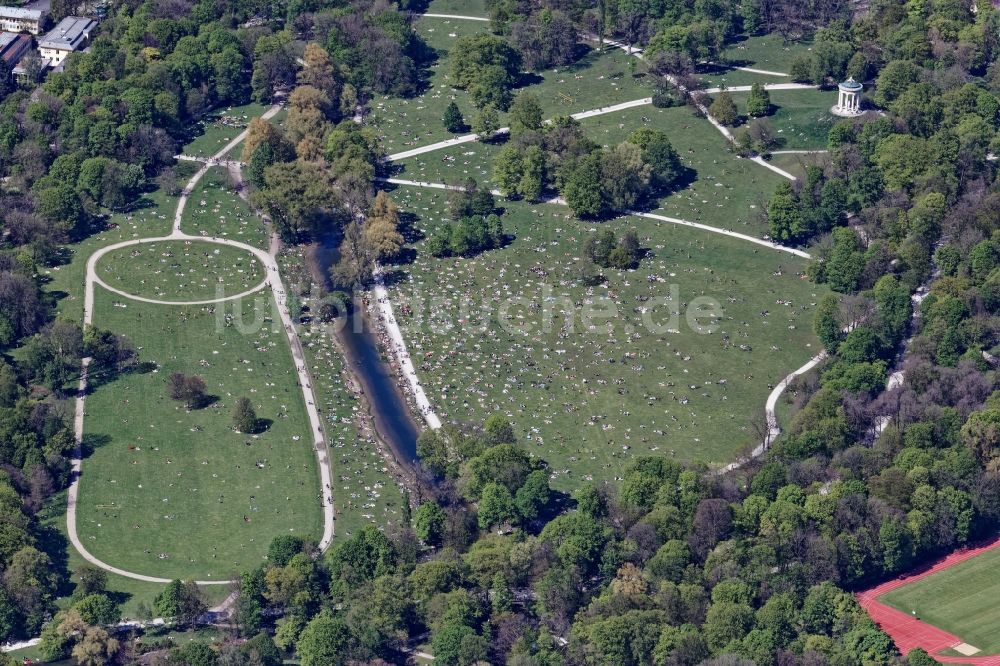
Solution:
<svg viewBox="0 0 1000 666"><path fill-rule="evenodd" d="M1000 549L897 588L880 601L951 632L982 654L1000 653Z"/></svg>

